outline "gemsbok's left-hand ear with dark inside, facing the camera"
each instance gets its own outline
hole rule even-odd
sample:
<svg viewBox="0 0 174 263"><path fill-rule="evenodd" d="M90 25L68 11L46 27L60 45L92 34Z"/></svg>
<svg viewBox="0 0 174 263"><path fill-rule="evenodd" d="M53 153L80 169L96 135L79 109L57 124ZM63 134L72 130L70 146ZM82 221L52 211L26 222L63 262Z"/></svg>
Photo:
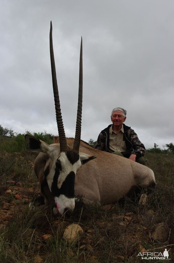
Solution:
<svg viewBox="0 0 174 263"><path fill-rule="evenodd" d="M25 134L25 145L30 151L39 151L46 154L48 154L50 148L50 145L29 134Z"/></svg>

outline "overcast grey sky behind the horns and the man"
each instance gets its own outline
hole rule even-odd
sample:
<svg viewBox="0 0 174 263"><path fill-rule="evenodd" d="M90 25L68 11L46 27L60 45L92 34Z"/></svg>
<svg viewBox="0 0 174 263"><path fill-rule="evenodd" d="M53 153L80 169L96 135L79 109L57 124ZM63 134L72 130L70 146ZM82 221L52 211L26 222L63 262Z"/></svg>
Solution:
<svg viewBox="0 0 174 263"><path fill-rule="evenodd" d="M81 139L115 107L146 148L174 143L174 1L0 0L0 124L57 135L50 21L65 133L74 137L83 38Z"/></svg>

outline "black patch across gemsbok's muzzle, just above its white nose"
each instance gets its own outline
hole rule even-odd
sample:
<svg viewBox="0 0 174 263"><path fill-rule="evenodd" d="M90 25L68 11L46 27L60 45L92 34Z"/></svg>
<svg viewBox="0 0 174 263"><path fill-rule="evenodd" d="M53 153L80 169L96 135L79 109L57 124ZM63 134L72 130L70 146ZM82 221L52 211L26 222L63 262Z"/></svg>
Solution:
<svg viewBox="0 0 174 263"><path fill-rule="evenodd" d="M62 186L60 189L57 187L57 181L58 181L58 175L55 173L55 176L53 178L53 183L51 186L51 193L52 195L59 196L61 194L65 195L68 198L74 198L74 181L75 181L75 173L71 171L64 182L62 183Z"/></svg>

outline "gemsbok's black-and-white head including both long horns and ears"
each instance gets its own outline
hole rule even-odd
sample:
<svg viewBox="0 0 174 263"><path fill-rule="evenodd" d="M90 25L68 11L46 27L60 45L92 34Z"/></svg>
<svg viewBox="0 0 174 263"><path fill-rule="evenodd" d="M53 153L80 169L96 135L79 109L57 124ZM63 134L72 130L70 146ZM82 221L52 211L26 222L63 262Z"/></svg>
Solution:
<svg viewBox="0 0 174 263"><path fill-rule="evenodd" d="M51 193L51 198L55 201L55 207L60 215L64 212L71 214L75 207L74 181L75 174L80 169L81 164L96 158L84 153L79 153L81 135L81 112L82 112L82 92L83 92L83 66L82 66L82 39L80 47L80 69L79 69L79 97L77 109L77 122L73 149L67 145L56 79L56 69L52 44L52 23L50 26L50 57L52 83L56 108L56 119L59 133L59 144L48 145L32 135L25 135L25 144L30 151L41 152L41 157L45 161L43 171L39 164L35 167L35 173L41 184L41 193L45 198L45 205L50 205L50 197L47 188ZM42 156L43 155L43 156ZM51 204L53 206L53 204Z"/></svg>

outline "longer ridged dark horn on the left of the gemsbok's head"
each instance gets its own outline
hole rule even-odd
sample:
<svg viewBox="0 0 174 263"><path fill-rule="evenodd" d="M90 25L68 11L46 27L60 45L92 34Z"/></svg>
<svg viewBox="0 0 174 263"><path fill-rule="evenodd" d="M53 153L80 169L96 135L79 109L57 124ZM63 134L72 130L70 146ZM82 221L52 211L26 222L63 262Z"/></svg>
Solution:
<svg viewBox="0 0 174 263"><path fill-rule="evenodd" d="M61 114L60 101L59 101L59 92L57 87L56 67L55 67L53 40L52 40L52 23L50 23L50 58L51 58L51 73L52 73L53 93L54 93L55 109L56 109L57 128L59 133L60 151L67 151L67 141L63 127L62 114Z"/></svg>

